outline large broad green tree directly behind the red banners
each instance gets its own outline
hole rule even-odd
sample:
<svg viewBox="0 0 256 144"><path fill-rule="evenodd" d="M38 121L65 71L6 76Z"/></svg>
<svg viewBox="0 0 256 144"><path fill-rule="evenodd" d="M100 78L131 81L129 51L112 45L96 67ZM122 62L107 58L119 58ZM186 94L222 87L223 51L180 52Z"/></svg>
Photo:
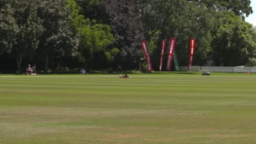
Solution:
<svg viewBox="0 0 256 144"><path fill-rule="evenodd" d="M214 22L214 9L206 9L206 4L201 2L186 0L144 2L143 20L148 31L146 36L155 44L151 47L159 47L161 39L176 38L176 51L180 63L186 65L190 39L196 39L193 63L204 65L208 58L207 54L211 51L210 31ZM159 49L155 50L159 52Z"/></svg>

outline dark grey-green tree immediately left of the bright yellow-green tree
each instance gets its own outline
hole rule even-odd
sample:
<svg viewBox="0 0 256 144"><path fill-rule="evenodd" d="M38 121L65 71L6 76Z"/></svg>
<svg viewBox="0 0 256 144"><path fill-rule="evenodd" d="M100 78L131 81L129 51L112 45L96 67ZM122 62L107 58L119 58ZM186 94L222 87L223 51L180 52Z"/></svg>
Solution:
<svg viewBox="0 0 256 144"><path fill-rule="evenodd" d="M39 37L38 52L43 55L44 73L48 73L49 60L63 55L76 55L79 40L71 25L71 13L66 1L40 1L38 16L44 27Z"/></svg>

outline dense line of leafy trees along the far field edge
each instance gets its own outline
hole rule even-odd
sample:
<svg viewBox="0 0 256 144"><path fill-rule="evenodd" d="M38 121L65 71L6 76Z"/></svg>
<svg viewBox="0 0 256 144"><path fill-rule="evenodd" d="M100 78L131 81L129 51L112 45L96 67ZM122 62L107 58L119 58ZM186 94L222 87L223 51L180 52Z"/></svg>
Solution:
<svg viewBox="0 0 256 144"><path fill-rule="evenodd" d="M180 65L196 39L193 65L255 66L256 31L244 21L252 12L250 0L0 0L0 66L144 70L146 39L157 70L169 38Z"/></svg>

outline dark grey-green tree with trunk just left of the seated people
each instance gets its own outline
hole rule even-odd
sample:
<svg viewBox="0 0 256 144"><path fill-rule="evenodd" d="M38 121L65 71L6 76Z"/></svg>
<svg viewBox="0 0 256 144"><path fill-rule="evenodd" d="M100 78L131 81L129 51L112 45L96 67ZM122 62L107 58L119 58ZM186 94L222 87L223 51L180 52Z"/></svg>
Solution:
<svg viewBox="0 0 256 144"><path fill-rule="evenodd" d="M37 15L38 1L10 0L10 7L14 7L14 19L17 25L12 55L17 61L17 72L21 71L22 59L32 57L38 48L39 36L42 34L42 21Z"/></svg>

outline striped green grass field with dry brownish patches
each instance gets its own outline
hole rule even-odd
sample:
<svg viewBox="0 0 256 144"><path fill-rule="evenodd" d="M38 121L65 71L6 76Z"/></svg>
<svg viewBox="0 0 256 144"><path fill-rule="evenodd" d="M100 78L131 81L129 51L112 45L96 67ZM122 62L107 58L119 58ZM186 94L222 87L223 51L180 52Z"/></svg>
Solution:
<svg viewBox="0 0 256 144"><path fill-rule="evenodd" d="M256 74L0 75L0 143L255 143Z"/></svg>

